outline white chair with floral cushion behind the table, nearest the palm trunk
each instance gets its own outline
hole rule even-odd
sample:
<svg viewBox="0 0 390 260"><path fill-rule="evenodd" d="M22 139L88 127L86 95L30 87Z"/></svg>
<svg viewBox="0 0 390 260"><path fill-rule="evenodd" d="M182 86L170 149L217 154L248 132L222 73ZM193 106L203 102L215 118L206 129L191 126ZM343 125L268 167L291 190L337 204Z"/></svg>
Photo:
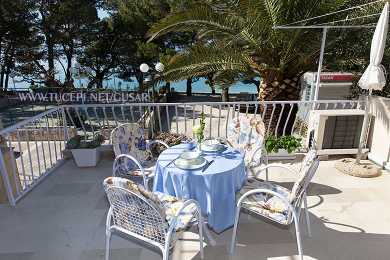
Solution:
<svg viewBox="0 0 390 260"><path fill-rule="evenodd" d="M227 138L218 137L231 147L239 150L244 157L245 173L248 178L250 168L268 164L267 152L264 148L265 141L264 123L255 117L240 116L234 117L229 122ZM268 180L268 170L266 170Z"/></svg>

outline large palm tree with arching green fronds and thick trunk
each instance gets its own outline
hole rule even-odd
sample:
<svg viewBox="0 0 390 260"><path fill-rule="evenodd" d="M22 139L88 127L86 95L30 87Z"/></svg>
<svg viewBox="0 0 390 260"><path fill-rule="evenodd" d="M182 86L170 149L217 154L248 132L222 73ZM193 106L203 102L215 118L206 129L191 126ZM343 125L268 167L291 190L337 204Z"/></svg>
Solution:
<svg viewBox="0 0 390 260"><path fill-rule="evenodd" d="M228 100L226 93L229 86L254 77L262 80L259 100L298 100L300 76L317 67L322 31L314 28L272 29L272 26L301 20L305 21L294 25L333 21L339 17L324 15L317 19L306 19L342 10L350 4L357 5L358 2L204 0L203 5L180 9L152 25L147 37L153 40L166 33L196 31L197 42L167 61L163 73L155 81L175 82L214 71L213 81L215 87L222 88L222 101ZM350 33L356 37L356 31L358 29L328 30L324 65L337 65L346 54L353 52L351 49L342 51L342 48L351 39ZM284 108L281 120L287 119L289 108ZM267 118L265 123L269 120L271 110L269 106L266 108L268 116L264 117ZM297 107L294 107L293 113L296 110ZM274 118L280 111L281 106L276 106ZM289 120L290 127L292 117ZM273 121L276 124L276 120ZM270 134L274 133L274 126L271 125Z"/></svg>

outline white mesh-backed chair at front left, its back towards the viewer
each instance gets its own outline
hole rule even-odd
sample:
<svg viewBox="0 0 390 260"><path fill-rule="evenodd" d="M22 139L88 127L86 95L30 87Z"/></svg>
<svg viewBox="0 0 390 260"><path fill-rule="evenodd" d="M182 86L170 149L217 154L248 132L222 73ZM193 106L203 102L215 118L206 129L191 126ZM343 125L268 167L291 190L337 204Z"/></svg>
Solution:
<svg viewBox="0 0 390 260"><path fill-rule="evenodd" d="M205 228L205 225L196 200L180 199L162 192L152 193L120 177L108 177L103 185L110 203L106 220L105 260L109 257L112 229L157 246L162 251L162 259L167 260L169 249L194 217L198 223L200 258L203 259L202 227Z"/></svg>

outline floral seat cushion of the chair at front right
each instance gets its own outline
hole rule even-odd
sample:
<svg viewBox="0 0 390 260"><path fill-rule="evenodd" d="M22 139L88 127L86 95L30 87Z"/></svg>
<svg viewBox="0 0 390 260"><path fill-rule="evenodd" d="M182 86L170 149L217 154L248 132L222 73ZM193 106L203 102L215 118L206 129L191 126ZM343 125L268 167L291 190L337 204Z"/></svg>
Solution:
<svg viewBox="0 0 390 260"><path fill-rule="evenodd" d="M291 191L285 187L279 186L269 181L260 178L248 178L243 187L235 196L236 202L247 191L256 188L266 188L283 195L286 199L289 198ZM261 215L272 218L279 223L288 224L286 215L288 214L288 206L280 198L267 193L253 193L247 196L241 204L242 207L255 211Z"/></svg>

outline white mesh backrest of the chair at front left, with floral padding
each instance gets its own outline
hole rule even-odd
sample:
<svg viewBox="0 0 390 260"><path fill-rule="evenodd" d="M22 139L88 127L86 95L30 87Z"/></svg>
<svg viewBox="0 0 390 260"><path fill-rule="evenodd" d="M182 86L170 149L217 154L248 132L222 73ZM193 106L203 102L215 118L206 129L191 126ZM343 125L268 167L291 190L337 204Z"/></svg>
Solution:
<svg viewBox="0 0 390 260"><path fill-rule="evenodd" d="M164 205L156 195L120 177L106 178L103 186L112 208L114 225L164 245L169 225Z"/></svg>

